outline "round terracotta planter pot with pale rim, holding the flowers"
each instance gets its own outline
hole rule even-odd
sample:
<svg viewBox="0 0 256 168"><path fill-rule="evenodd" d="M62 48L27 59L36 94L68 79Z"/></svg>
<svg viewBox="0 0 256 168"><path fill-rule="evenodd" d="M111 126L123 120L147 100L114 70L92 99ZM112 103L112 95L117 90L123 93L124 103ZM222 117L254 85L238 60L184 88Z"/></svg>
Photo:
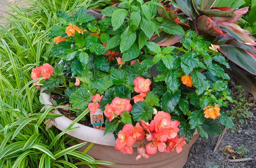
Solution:
<svg viewBox="0 0 256 168"><path fill-rule="evenodd" d="M41 90L41 95L43 96L46 104L52 104L49 100L50 95L42 93L45 90ZM46 107L46 109L49 107ZM54 113L60 114L58 110L55 110ZM72 120L61 116L55 119L57 128L60 131L66 130L66 128L71 124ZM98 165L101 168L182 168L186 161L189 149L195 143L199 134L197 131L193 134L193 138L190 140L189 144L182 146L182 152L177 153L176 149L174 152L157 152L155 155L150 155L149 159L141 158L139 161L136 161L137 153L137 143L134 143L132 147L134 152L133 154L123 154L122 152L115 149L115 138L112 133L108 133L103 137L104 131L97 130L95 128L90 128L81 124L76 123L73 127L80 127L75 130L69 131L71 137L78 138L79 143L88 142L85 146L77 149L80 152L84 152L90 143L94 143L92 148L87 152L88 155L93 157L95 160L103 160L114 162L118 165ZM145 142L146 138L143 139ZM143 141L142 140L142 141ZM147 144L147 143L146 143ZM69 143L70 146L73 146L74 143ZM79 168L87 168L87 165L80 165Z"/></svg>

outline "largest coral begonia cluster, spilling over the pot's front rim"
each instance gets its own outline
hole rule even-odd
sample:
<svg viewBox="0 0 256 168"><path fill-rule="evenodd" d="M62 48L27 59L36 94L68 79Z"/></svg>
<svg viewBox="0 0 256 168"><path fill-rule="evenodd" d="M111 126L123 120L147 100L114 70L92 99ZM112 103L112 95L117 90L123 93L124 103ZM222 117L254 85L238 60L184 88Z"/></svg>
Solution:
<svg viewBox="0 0 256 168"><path fill-rule="evenodd" d="M182 146L186 144L186 139L184 139L184 136L177 137L180 131L178 128L180 122L177 120L171 121L171 115L169 113L159 111L150 124L144 120L140 120L140 122L141 125L137 122L135 127L131 124L126 124L119 131L115 146L116 149L124 154L132 154L132 145L136 140L142 140L146 135L150 143L147 145L140 143L141 146L138 147L138 153L140 155L137 156L136 160L142 157L147 159L149 155L156 154L157 150L159 152L169 153L170 150L174 151L176 147L177 153L182 151ZM142 146L145 146L146 149Z"/></svg>

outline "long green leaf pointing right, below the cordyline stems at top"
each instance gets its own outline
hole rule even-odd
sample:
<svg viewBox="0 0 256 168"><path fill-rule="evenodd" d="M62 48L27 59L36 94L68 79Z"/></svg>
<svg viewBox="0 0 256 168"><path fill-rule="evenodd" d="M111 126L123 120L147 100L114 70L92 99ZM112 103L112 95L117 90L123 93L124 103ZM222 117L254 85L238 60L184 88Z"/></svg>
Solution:
<svg viewBox="0 0 256 168"><path fill-rule="evenodd" d="M171 34L171 35L183 35L184 34L183 28L171 20L164 19L163 23L160 23L157 21L155 21L154 23L156 24L158 29L160 29L168 34Z"/></svg>

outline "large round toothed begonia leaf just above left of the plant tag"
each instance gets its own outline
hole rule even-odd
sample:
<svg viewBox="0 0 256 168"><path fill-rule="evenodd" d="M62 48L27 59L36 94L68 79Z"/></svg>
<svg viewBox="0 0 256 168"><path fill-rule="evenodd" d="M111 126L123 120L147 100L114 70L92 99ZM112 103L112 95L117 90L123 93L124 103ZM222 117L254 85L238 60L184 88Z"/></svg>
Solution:
<svg viewBox="0 0 256 168"><path fill-rule="evenodd" d="M79 88L70 95L69 101L75 109L85 110L92 100L92 94L85 88Z"/></svg>

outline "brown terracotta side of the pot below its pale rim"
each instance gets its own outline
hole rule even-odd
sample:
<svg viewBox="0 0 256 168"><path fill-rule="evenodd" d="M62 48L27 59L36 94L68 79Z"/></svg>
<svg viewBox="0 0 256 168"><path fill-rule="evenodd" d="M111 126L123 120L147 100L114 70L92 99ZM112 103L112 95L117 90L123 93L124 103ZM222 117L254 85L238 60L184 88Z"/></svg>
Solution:
<svg viewBox="0 0 256 168"><path fill-rule="evenodd" d="M189 144L182 146L182 151L180 153L175 150L170 153L167 152L157 152L155 155L150 155L149 159L141 158L136 161L136 157L139 155L137 153L137 148L133 148L133 154L123 154L122 152L115 149L114 146L105 146L94 144L91 149L86 153L93 157L95 160L103 160L114 162L118 165L98 165L100 168L182 168L186 162L189 153L189 149L197 140L199 134L195 134L190 140ZM79 143L85 141L77 139ZM75 143L69 143L69 146L73 146ZM84 150L90 145L87 143L85 146L78 148L76 150L84 152ZM88 165L77 165L79 168L88 168Z"/></svg>

